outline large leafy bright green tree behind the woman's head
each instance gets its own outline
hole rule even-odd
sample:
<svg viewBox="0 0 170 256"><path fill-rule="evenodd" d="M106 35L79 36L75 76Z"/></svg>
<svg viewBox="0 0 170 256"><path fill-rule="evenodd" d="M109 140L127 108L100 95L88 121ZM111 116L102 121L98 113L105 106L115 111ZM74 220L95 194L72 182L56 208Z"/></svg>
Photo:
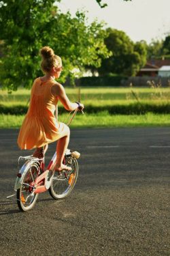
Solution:
<svg viewBox="0 0 170 256"><path fill-rule="evenodd" d="M39 49L49 45L63 59L61 82L73 77L73 68L100 66L109 53L103 23L86 25L86 16L62 14L55 0L4 0L0 2L1 84L10 91L30 87L41 75Z"/></svg>

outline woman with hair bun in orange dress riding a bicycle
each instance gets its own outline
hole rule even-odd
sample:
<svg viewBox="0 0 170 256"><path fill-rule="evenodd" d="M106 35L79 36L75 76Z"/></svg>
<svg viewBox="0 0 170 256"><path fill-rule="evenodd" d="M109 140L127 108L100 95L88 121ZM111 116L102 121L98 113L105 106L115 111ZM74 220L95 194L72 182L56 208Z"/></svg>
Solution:
<svg viewBox="0 0 170 256"><path fill-rule="evenodd" d="M70 170L70 167L63 165L63 158L69 144L69 127L56 120L54 111L58 100L67 111L84 109L84 105L79 102L70 102L64 87L55 81L63 70L61 57L55 55L49 46L41 48L40 53L41 69L45 76L38 77L33 82L29 110L20 128L18 145L22 150L31 150L36 147L33 156L40 158L43 150L43 153L46 152L48 143L58 141L55 171Z"/></svg>

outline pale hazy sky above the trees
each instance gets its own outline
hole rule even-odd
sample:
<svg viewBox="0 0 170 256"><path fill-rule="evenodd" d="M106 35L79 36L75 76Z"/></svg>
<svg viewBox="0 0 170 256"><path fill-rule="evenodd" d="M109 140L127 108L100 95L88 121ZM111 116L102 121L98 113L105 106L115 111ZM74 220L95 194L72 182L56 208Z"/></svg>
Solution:
<svg viewBox="0 0 170 256"><path fill-rule="evenodd" d="M103 0L106 8L100 8L95 0L61 0L62 12L86 10L89 23L95 18L104 20L107 27L122 30L133 42L165 39L170 33L170 0Z"/></svg>

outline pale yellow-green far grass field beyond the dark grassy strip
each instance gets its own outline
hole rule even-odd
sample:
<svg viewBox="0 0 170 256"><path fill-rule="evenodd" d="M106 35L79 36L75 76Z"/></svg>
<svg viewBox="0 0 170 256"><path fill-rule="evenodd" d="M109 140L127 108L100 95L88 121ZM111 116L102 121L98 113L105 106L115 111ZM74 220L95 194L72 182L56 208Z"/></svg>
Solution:
<svg viewBox="0 0 170 256"><path fill-rule="evenodd" d="M78 88L66 88L69 99L73 102L78 100ZM0 104L13 106L28 104L30 90L18 89L12 94L0 90ZM166 88L116 88L116 87L88 87L80 89L80 98L84 105L99 106L102 104L129 104L130 102L167 102L170 100L170 87Z"/></svg>

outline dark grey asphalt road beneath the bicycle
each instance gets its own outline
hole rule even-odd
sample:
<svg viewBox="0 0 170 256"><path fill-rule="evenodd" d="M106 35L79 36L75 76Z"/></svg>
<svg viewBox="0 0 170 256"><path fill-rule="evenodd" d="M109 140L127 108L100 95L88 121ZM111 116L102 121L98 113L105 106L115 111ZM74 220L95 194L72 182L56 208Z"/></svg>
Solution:
<svg viewBox="0 0 170 256"><path fill-rule="evenodd" d="M0 255L170 255L169 128L71 130L81 152L71 195L39 195L20 212L14 193L18 130L0 130ZM54 152L50 145L47 159Z"/></svg>

